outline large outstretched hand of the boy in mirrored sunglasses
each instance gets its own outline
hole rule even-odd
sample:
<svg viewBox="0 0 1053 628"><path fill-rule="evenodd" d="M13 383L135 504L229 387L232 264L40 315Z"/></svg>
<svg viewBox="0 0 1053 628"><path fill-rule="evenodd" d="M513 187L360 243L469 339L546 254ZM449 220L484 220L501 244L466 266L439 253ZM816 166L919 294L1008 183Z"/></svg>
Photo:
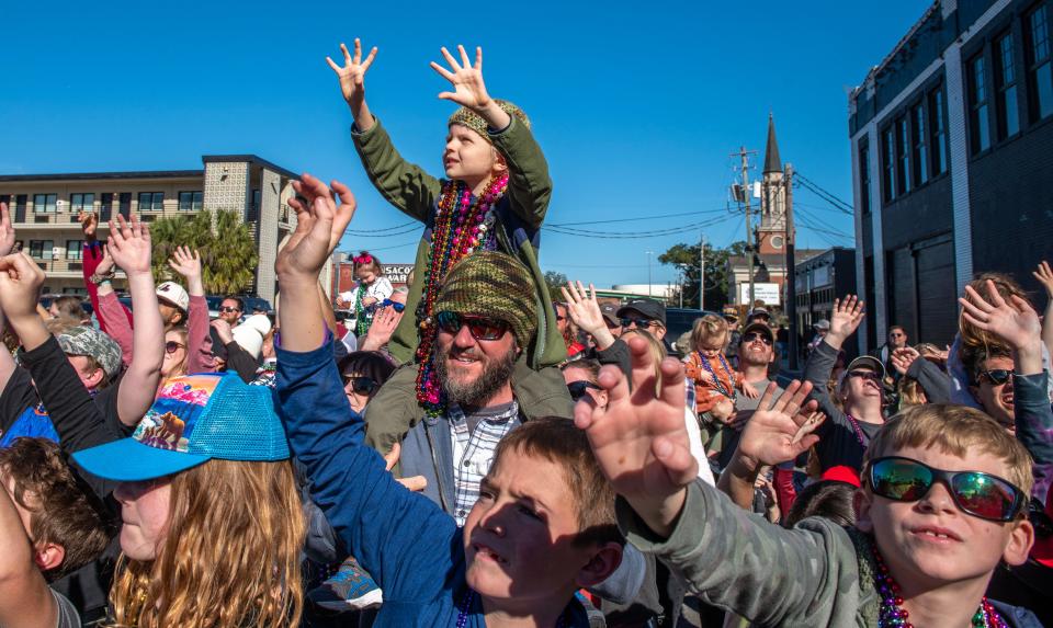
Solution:
<svg viewBox="0 0 1053 628"><path fill-rule="evenodd" d="M610 391L610 402L607 408L578 402L575 424L586 431L614 490L650 529L668 536L683 506L684 487L699 470L683 415L683 368L673 358L663 361L660 397L656 397L647 342L633 338L629 347L633 391L620 368L603 367L599 384Z"/></svg>

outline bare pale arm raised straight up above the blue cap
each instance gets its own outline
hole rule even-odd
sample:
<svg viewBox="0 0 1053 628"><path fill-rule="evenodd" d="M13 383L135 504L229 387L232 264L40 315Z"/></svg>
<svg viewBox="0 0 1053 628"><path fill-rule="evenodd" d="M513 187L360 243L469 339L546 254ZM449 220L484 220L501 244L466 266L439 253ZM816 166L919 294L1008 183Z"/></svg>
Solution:
<svg viewBox="0 0 1053 628"><path fill-rule="evenodd" d="M165 359L165 324L157 309L150 270L150 229L133 215L132 224L117 216L110 222L110 254L128 276L132 293L132 364L117 390L117 416L129 427L138 424L154 402Z"/></svg>

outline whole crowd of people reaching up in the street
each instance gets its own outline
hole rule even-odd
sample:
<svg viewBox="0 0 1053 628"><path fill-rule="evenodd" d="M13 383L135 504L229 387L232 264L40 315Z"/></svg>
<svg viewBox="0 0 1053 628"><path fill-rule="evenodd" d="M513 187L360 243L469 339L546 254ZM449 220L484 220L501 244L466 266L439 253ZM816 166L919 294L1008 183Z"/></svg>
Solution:
<svg viewBox="0 0 1053 628"><path fill-rule="evenodd" d="M656 300L553 302L553 181L482 49L432 64L458 105L435 178L366 104L376 48L341 48L363 167L426 226L407 289L362 251L330 301L355 201L306 173L276 316L210 320L186 248L155 286L134 215L105 242L82 217L93 315L44 308L0 205L0 626L671 627L686 598L706 627L1053 621L1048 264L1044 317L984 273L944 350L893 327L846 359L848 295L777 376L763 308L668 339Z"/></svg>

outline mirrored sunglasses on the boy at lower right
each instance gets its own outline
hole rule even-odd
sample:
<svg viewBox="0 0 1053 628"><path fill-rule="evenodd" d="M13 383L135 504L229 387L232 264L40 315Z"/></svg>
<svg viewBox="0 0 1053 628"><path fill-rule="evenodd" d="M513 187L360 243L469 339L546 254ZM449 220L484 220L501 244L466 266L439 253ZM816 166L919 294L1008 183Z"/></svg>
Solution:
<svg viewBox="0 0 1053 628"><path fill-rule="evenodd" d="M897 502L916 502L943 482L963 513L994 522L1012 521L1028 503L1023 491L998 476L944 471L902 456L871 460L867 477L874 494Z"/></svg>

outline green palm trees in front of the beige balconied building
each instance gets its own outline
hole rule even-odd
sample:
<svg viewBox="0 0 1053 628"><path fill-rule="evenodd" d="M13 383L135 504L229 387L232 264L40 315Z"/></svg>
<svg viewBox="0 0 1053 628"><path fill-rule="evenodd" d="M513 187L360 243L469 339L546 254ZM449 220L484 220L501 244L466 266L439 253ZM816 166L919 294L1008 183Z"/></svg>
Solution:
<svg viewBox="0 0 1053 628"><path fill-rule="evenodd" d="M177 247L201 252L202 281L210 294L237 294L248 290L256 276L259 256L249 225L237 212L220 209L194 216L176 216L150 226L154 241L154 278L172 276L168 259Z"/></svg>

